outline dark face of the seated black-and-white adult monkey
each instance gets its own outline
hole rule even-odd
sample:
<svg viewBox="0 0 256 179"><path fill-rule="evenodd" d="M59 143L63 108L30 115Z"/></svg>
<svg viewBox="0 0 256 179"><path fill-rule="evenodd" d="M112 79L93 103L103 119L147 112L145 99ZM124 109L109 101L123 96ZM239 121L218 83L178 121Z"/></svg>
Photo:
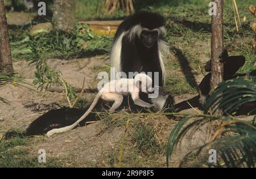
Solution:
<svg viewBox="0 0 256 179"><path fill-rule="evenodd" d="M158 31L143 29L141 32L141 41L144 46L151 48L158 40Z"/></svg>

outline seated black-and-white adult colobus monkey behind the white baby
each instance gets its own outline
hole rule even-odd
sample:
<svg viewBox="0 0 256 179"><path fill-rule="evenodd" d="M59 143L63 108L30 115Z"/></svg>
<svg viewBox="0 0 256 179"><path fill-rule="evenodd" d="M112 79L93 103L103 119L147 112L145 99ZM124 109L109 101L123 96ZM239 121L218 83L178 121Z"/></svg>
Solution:
<svg viewBox="0 0 256 179"><path fill-rule="evenodd" d="M165 78L164 53L168 45L163 41L166 31L164 18L152 12L139 12L124 20L115 33L110 52L111 67L115 73L154 72L159 73L159 84L163 87Z"/></svg>

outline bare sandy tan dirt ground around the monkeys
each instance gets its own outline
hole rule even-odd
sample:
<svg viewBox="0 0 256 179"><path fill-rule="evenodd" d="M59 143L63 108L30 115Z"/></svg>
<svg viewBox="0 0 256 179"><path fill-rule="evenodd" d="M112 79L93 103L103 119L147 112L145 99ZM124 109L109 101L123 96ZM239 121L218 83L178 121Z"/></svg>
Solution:
<svg viewBox="0 0 256 179"><path fill-rule="evenodd" d="M82 58L69 61L48 59L47 63L54 69L60 70L63 74L63 78L71 83L72 86L81 87L85 77L85 87L94 87L96 86L97 74L94 70L95 67L104 66L108 64L109 61L108 59L100 58ZM34 79L35 65L28 66L26 61L19 61L14 62L14 69L19 75L26 76L25 80L27 82L32 82ZM26 87L15 87L12 84L1 87L0 91L1 97L11 101L11 106L0 103L0 135L3 135L12 128L25 130L32 121L48 110L68 106L63 93L40 93L29 90ZM44 97L42 97L43 95ZM87 96L93 97L92 94L87 94ZM175 100L179 103L191 97L193 96L189 94L177 96ZM185 110L185 112L195 113L193 109ZM168 135L176 121L170 120L167 117L160 117L158 120L158 125L165 126L167 124L163 132L163 138L167 142ZM125 126L115 127L113 130L104 131L104 133L102 133L101 130L102 123L99 121L64 134L53 135L51 138L36 137L33 139L34 144L28 146L28 150L31 151L32 155L37 155L38 150L43 148L47 151L48 156L65 158L67 165L74 165L75 162L75 165L80 167L108 166L104 164L104 156L108 155L109 152L114 149L119 150ZM189 137L184 139L180 147L181 150L177 150L176 154L171 159L171 164L174 167L188 150L203 144L207 140L204 132L204 129L196 131L197 134L194 135L196 136L195 139L191 140ZM127 144L126 149L129 147L131 146ZM129 150L126 152L128 151ZM165 154L160 156L159 166L166 166ZM150 167L150 165L148 165L148 167Z"/></svg>

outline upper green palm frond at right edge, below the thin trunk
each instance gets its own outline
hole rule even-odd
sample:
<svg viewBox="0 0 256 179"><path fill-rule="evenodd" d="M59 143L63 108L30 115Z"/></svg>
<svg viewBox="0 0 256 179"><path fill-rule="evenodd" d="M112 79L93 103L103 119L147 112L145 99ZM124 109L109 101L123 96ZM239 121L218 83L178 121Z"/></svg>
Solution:
<svg viewBox="0 0 256 179"><path fill-rule="evenodd" d="M256 103L256 76L246 75L237 79L220 83L213 94L207 99L206 109L222 109L224 113L232 114L242 105ZM249 113L255 113L256 109Z"/></svg>

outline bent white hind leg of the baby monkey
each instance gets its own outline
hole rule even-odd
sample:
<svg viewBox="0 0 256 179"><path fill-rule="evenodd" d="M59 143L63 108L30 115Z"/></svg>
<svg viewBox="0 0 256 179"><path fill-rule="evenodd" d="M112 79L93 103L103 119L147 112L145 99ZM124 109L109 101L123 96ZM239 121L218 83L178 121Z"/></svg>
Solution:
<svg viewBox="0 0 256 179"><path fill-rule="evenodd" d="M114 112L123 102L123 96L116 93L104 93L101 98L106 101L114 101L112 107L109 109L110 113Z"/></svg>

